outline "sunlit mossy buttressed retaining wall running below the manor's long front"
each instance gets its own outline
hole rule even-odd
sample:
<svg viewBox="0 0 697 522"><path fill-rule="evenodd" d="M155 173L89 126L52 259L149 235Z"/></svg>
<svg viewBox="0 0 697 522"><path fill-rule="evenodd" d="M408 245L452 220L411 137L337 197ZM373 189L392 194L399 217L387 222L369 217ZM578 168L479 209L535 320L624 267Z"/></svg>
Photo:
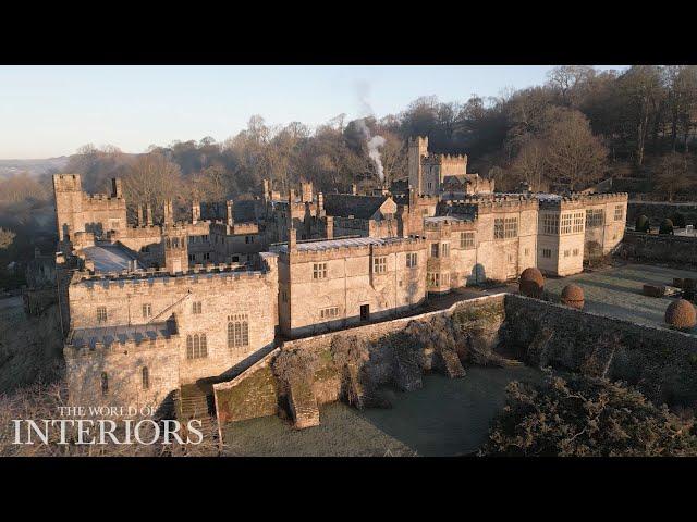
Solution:
<svg viewBox="0 0 697 522"><path fill-rule="evenodd" d="M487 296L458 302L448 310L285 341L232 381L213 385L219 425L277 413L290 413L293 417L298 402L316 410L318 405L340 398L357 405L379 401L375 395L377 387L392 385L404 390L418 388L421 372L430 369L442 371L451 377L462 376L464 371L460 362L453 359L466 359L463 350L485 355L485 358L492 352L504 319L503 303L503 295ZM435 347L420 337L415 341L414 334L405 334L406 331L414 332L415 324L420 325L416 331L425 327L426 333L437 332L436 336L443 325L457 324L458 333L454 337L460 344L449 351L448 357L436 357L442 347ZM364 350L362 362L342 365L344 363L338 361L334 352L338 341ZM409 351L417 356L416 360L401 357ZM306 393L299 396L297 385L289 386L276 377L273 363L282 352L313 355L310 359L316 363L310 383L306 383L309 387L303 388L303 391L311 390L308 397L304 396ZM317 418L294 419L296 427L319 422L318 411L313 415ZM313 415L308 413L305 417Z"/></svg>

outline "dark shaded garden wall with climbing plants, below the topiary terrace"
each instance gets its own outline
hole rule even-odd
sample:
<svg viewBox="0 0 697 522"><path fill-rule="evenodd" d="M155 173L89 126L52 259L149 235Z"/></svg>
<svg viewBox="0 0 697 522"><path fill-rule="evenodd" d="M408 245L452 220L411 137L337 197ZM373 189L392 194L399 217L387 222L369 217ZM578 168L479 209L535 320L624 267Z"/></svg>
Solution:
<svg viewBox="0 0 697 522"><path fill-rule="evenodd" d="M697 336L505 297L503 346L525 363L625 381L656 402L697 401Z"/></svg>

